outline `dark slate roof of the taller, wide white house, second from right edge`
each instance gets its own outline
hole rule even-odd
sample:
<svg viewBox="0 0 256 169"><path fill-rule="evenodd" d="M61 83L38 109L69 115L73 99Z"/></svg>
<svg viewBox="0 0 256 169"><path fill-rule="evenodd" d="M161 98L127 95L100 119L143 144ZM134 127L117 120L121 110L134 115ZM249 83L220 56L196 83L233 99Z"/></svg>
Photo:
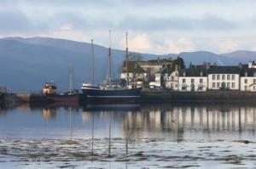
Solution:
<svg viewBox="0 0 256 169"><path fill-rule="evenodd" d="M241 74L239 66L213 66L208 69L208 74Z"/></svg>

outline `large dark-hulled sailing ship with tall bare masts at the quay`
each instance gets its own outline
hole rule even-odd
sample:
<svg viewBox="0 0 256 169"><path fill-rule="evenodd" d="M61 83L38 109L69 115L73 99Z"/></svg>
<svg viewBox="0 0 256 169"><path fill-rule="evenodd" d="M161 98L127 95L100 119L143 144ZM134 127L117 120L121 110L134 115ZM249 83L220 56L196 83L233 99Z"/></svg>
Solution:
<svg viewBox="0 0 256 169"><path fill-rule="evenodd" d="M83 85L82 92L91 104L137 104L141 97L141 87L129 87L128 81L128 42L126 32L126 85L122 87L119 84L112 83L111 80L111 32L109 31L110 45L108 54L109 79L108 83L100 87L90 87ZM93 43L92 43L93 48ZM94 56L92 56L94 57ZM93 74L94 75L94 74ZM93 78L94 79L94 78Z"/></svg>

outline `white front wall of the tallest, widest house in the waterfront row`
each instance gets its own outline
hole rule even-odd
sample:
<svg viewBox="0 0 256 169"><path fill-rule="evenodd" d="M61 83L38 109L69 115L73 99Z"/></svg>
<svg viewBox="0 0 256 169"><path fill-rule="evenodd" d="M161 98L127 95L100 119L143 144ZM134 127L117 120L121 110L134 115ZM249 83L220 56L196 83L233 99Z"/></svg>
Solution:
<svg viewBox="0 0 256 169"><path fill-rule="evenodd" d="M219 87L222 87L223 82L225 84L225 87L228 87L230 90L239 90L240 75L239 74L208 74L208 89L219 90Z"/></svg>

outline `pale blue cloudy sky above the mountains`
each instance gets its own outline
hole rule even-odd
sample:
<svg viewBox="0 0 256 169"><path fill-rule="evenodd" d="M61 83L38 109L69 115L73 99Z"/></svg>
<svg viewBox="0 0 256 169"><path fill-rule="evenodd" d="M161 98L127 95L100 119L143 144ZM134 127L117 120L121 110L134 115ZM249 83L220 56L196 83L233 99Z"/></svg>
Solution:
<svg viewBox="0 0 256 169"><path fill-rule="evenodd" d="M149 54L256 51L255 0L1 0L0 37L57 37Z"/></svg>

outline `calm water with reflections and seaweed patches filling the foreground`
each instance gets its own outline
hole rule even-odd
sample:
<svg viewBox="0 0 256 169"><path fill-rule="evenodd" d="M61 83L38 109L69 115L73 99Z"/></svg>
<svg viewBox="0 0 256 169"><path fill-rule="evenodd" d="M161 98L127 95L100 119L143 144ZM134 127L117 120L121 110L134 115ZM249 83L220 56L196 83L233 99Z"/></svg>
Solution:
<svg viewBox="0 0 256 169"><path fill-rule="evenodd" d="M253 167L255 128L252 104L25 104L0 110L0 168Z"/></svg>

